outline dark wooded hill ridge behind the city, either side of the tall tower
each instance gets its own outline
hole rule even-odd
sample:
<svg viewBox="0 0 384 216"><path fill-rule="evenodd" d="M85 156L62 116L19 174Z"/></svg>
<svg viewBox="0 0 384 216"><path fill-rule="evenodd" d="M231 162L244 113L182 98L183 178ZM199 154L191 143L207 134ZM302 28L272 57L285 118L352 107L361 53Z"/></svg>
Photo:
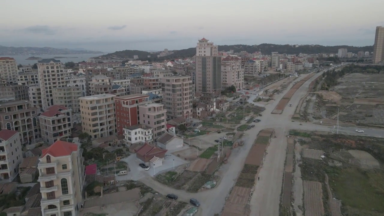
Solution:
<svg viewBox="0 0 384 216"><path fill-rule="evenodd" d="M271 52L279 52L286 54L299 54L299 53L307 53L307 54L317 54L317 53L338 53L340 48L347 48L348 52L357 53L359 51L368 51L373 52L373 46L366 47L353 47L353 46L322 46L322 45L300 45L299 47L294 47L293 45L276 45L269 43L262 43L260 45L219 45L219 51L229 51L233 50L235 53L240 51L247 51L248 53L259 52L261 51L263 54L270 54ZM173 54L157 58L156 53L149 53L145 51L139 50L123 50L114 53L109 53L106 55L99 56L101 58L118 58L122 60L133 58L134 55L138 55L140 60L165 60L165 59L174 59L174 58L187 58L192 57L196 54L196 48L188 48L183 50L170 50L169 52L173 52ZM147 56L151 57L148 58Z"/></svg>

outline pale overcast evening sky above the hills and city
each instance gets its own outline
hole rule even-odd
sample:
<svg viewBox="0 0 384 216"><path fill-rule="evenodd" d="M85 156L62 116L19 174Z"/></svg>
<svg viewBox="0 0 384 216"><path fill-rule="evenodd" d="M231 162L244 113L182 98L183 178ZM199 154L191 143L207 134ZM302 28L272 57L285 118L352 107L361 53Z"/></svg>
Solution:
<svg viewBox="0 0 384 216"><path fill-rule="evenodd" d="M373 45L384 0L15 0L0 4L0 45L179 50L216 45ZM4 22L5 21L5 22Z"/></svg>

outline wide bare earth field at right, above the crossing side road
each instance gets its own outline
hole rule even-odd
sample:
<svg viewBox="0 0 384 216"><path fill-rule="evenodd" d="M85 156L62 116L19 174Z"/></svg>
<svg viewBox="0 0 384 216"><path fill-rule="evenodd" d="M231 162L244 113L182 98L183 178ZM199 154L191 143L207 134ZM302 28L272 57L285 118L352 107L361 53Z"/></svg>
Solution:
<svg viewBox="0 0 384 216"><path fill-rule="evenodd" d="M310 120L337 118L361 126L384 125L384 76L382 74L349 73L329 91L306 96L300 113Z"/></svg>

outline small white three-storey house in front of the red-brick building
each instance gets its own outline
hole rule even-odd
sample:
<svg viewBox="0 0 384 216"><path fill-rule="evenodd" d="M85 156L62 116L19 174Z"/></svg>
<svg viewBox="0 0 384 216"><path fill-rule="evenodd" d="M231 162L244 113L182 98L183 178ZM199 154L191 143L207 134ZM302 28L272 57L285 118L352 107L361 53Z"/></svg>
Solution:
<svg viewBox="0 0 384 216"><path fill-rule="evenodd" d="M124 130L124 142L127 146L135 143L151 143L153 141L153 128L147 125L132 125Z"/></svg>

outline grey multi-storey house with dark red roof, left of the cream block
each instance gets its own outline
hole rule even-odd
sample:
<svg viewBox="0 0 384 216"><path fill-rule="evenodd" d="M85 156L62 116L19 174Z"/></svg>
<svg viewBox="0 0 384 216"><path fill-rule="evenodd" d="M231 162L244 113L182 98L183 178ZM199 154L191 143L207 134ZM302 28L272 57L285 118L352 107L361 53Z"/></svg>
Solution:
<svg viewBox="0 0 384 216"><path fill-rule="evenodd" d="M41 138L44 142L52 144L58 139L70 138L73 128L71 108L53 105L41 113L39 118Z"/></svg>

